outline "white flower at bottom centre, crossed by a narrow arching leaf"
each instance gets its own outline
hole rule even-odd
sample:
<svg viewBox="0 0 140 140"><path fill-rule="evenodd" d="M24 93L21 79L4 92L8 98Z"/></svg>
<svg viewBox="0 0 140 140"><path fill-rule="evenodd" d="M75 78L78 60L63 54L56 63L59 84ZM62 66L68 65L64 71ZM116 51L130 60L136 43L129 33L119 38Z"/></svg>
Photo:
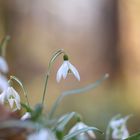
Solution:
<svg viewBox="0 0 140 140"><path fill-rule="evenodd" d="M87 128L88 126L84 124L83 122L78 122L74 127L72 127L69 131L69 134L74 133L77 130ZM76 136L77 140L88 140L90 139L96 139L95 133L92 130L89 130L87 132L80 133Z"/></svg>

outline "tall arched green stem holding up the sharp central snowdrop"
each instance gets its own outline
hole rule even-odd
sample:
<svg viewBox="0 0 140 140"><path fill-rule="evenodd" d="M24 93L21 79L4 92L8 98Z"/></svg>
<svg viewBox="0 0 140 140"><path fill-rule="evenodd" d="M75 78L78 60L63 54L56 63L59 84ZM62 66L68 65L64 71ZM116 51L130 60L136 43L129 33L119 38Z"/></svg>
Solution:
<svg viewBox="0 0 140 140"><path fill-rule="evenodd" d="M49 61L49 65L48 65L48 72L46 74L46 80L45 80L45 86L44 86L44 91L43 91L43 96L42 96L42 106L44 105L44 100L45 100L45 96L47 94L47 86L48 86L48 80L49 80L49 76L50 76L50 72L52 69L52 65L54 64L56 58L58 56L60 56L61 54L65 54L64 50L60 49L57 50L51 57L50 61Z"/></svg>

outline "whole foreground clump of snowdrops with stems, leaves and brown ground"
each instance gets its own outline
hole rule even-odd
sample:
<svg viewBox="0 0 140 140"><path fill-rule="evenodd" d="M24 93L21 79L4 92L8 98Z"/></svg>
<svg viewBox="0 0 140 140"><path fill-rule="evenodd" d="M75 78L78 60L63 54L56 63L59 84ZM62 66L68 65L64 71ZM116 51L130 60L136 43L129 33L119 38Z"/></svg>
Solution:
<svg viewBox="0 0 140 140"><path fill-rule="evenodd" d="M80 89L74 89L63 92L54 101L49 112L45 112L44 100L47 94L47 86L51 74L52 66L59 56L63 56L63 63L56 74L56 81L60 82L62 78L66 79L69 73L72 73L75 78L80 81L80 74L77 68L69 61L68 54L59 49L52 54L48 64L46 73L46 80L41 102L37 103L35 107L30 105L28 99L28 92L23 83L16 77L10 76L7 79L8 64L5 58L5 48L7 44L7 37L4 38L0 44L0 139L3 140L91 140L98 139L95 132L103 134L103 132L96 128L89 126L83 122L82 116L77 112L68 112L59 117L55 117L55 111L62 99L65 96L73 94L86 93L86 91L96 88L104 80L108 78L105 74L100 80L95 83L85 86ZM18 83L26 102L22 102L20 94L14 89L14 82ZM126 122L129 116L124 118L114 117L107 127L106 140L120 140L129 137L129 132ZM75 124L68 129L68 125L72 120Z"/></svg>

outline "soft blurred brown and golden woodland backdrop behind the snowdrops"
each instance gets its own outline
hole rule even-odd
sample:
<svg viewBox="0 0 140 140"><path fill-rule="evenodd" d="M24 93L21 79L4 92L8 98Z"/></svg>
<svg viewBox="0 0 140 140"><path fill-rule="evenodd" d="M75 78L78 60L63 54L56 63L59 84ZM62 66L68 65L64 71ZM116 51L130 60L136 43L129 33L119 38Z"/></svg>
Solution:
<svg viewBox="0 0 140 140"><path fill-rule="evenodd" d="M58 114L81 113L87 124L105 130L116 114L133 114L131 133L140 130L139 0L0 0L0 39L10 35L10 74L26 85L34 105L43 92L51 54L63 48L81 75L56 82L60 57L49 80L46 107L62 91L110 77L87 94L66 97Z"/></svg>

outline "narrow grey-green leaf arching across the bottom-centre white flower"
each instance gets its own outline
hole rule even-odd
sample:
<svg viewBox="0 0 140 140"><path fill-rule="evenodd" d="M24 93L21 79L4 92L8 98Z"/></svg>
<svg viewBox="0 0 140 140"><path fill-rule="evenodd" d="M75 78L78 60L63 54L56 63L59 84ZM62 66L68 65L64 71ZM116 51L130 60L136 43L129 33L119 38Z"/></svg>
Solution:
<svg viewBox="0 0 140 140"><path fill-rule="evenodd" d="M84 132L87 132L89 130L92 130L92 131L97 131L101 134L103 134L103 132L101 130L99 130L98 128L96 127L87 127L87 128L82 128L82 129L79 129L71 134L68 134L64 137L64 140L70 140L72 138L74 138L75 136L79 135L80 133L84 133Z"/></svg>

